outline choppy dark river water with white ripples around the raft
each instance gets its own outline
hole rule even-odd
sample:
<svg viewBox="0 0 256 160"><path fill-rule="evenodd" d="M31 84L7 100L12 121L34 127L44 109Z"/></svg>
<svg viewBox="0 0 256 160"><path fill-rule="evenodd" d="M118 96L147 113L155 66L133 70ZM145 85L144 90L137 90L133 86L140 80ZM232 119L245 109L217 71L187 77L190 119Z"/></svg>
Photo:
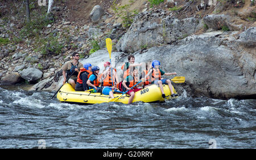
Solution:
<svg viewBox="0 0 256 160"><path fill-rule="evenodd" d="M53 94L0 87L0 148L256 147L256 100L73 105Z"/></svg>

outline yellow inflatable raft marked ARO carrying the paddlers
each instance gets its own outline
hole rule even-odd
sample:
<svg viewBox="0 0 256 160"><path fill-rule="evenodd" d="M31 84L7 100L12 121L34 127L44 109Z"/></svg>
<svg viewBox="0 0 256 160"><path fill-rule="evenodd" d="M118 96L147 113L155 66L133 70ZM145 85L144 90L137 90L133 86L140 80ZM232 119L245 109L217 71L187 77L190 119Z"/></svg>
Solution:
<svg viewBox="0 0 256 160"><path fill-rule="evenodd" d="M168 85L163 85L164 94L166 99L170 99L171 93ZM174 87L172 87L174 89ZM174 93L176 93L174 89ZM121 94L114 94L114 97L121 96ZM108 95L101 93L90 93L75 91L75 89L68 83L64 84L63 87L57 93L57 99L64 103L79 103L79 104L95 104L109 102L111 98ZM123 94L115 102L128 103L129 95ZM133 102L159 102L164 101L162 93L157 85L150 85L150 87L139 90L135 93Z"/></svg>

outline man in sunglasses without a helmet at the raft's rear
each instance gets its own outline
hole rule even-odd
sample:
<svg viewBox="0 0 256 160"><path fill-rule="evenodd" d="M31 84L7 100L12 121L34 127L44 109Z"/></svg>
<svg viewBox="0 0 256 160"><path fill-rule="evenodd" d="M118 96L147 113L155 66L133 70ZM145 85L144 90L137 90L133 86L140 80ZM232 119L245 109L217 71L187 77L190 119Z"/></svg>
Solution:
<svg viewBox="0 0 256 160"><path fill-rule="evenodd" d="M83 67L82 63L79 62L80 55L77 52L74 52L72 54L72 60L66 62L61 67L62 74L63 74L63 85L66 83L67 77L71 76L69 78L68 83L72 85L73 88L76 87L76 80L78 73L80 72L80 68Z"/></svg>

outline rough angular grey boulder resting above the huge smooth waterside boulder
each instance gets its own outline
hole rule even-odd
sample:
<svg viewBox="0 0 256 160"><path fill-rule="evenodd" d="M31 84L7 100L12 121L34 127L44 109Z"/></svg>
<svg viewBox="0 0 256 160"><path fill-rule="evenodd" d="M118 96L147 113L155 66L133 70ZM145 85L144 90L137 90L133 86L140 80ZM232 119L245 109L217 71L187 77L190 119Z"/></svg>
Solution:
<svg viewBox="0 0 256 160"><path fill-rule="evenodd" d="M172 44L203 28L197 18L175 19L166 11L142 12L118 41L117 50L134 53L142 48Z"/></svg>

